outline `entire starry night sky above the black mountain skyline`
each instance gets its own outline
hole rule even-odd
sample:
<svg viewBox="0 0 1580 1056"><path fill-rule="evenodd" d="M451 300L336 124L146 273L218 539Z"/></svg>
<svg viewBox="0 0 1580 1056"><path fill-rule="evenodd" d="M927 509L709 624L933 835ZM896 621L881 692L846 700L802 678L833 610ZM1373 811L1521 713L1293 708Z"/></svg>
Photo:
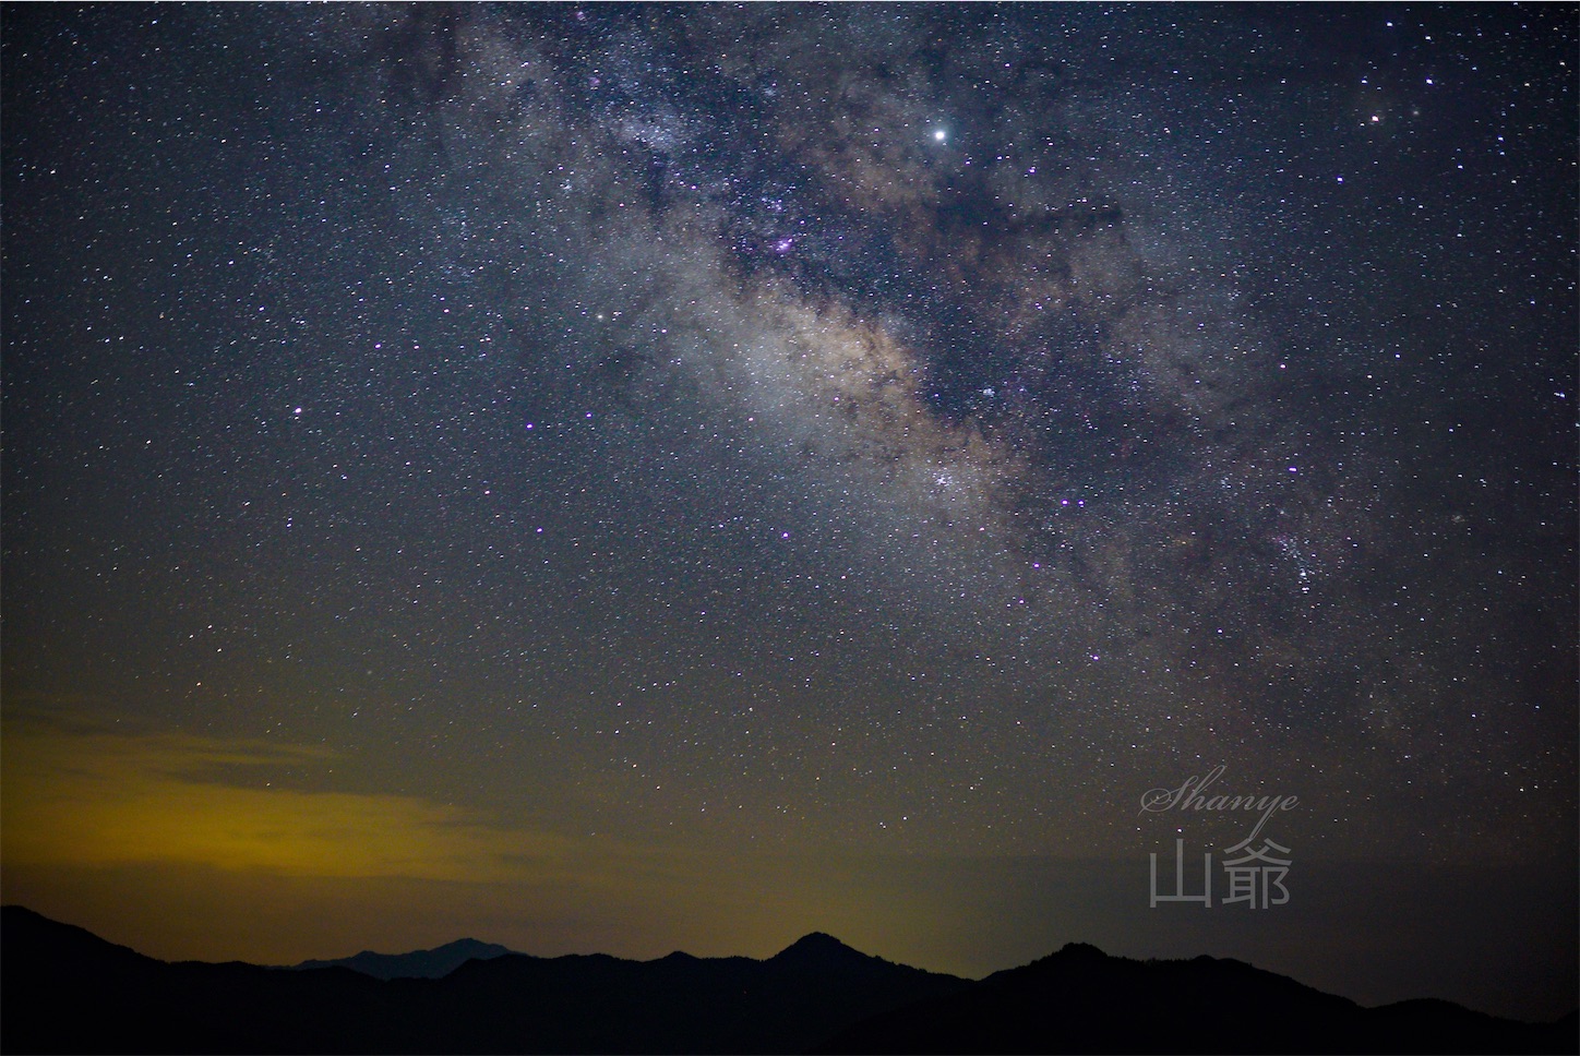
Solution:
<svg viewBox="0 0 1580 1056"><path fill-rule="evenodd" d="M1567 1012L1575 65L1567 5L6 8L5 901ZM1291 898L1152 908L1220 766Z"/></svg>

